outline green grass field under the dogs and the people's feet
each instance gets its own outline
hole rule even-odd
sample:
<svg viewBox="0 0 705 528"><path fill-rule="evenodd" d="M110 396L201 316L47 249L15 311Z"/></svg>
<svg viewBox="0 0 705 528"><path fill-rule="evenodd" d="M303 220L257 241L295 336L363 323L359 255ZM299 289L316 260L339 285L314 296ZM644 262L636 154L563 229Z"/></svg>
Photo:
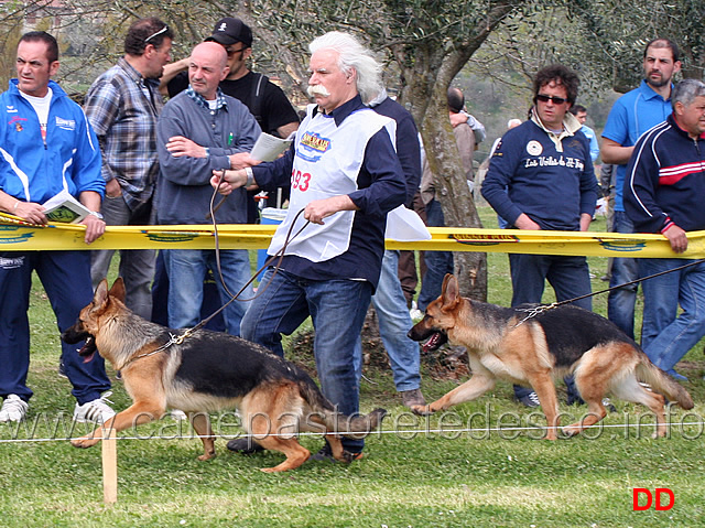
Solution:
<svg viewBox="0 0 705 528"><path fill-rule="evenodd" d="M482 217L490 226L491 212L484 208ZM604 220L594 229L604 230ZM508 304L507 257L490 254L488 259L490 301ZM590 259L590 269L597 276L593 289L605 288L598 278L606 259ZM604 297L595 300L595 310L603 314ZM56 373L56 325L39 287L32 293L31 321L29 385L35 396L30 414L19 427L0 424L1 526L705 526L702 344L679 365L690 378L684 385L696 407L687 414L671 411L668 439L651 439L653 420L643 409L614 401L617 412L603 428L571 440L536 440L541 431L525 428L540 425L540 414L512 401L507 384L442 418L421 419L401 407L389 370L369 368L362 409L383 406L390 416L384 432L368 439L364 460L350 465L310 462L270 475L258 470L281 462L280 454L230 454L225 440L218 440L219 456L198 462L200 441L174 439L189 431L165 419L128 431L129 439L118 441L119 498L105 506L100 446L82 451L65 440L51 440L83 429L70 430L74 400L68 381ZM294 345L288 357L303 359ZM123 409L129 398L115 373L109 374L113 407ZM427 398L457 384L424 375ZM585 411L564 403L561 410L572 417ZM226 417L216 429L223 435L237 434L230 423ZM31 441L9 442L13 438ZM302 443L316 451L322 440L306 437ZM675 503L669 510L632 511L633 488L670 488Z"/></svg>

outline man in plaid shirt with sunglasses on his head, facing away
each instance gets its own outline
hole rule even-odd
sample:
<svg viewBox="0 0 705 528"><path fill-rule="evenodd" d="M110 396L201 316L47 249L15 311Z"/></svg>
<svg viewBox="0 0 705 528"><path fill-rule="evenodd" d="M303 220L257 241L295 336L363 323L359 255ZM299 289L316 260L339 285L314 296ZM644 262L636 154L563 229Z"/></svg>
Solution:
<svg viewBox="0 0 705 528"><path fill-rule="evenodd" d="M172 30L158 18L138 20L126 35L124 56L86 95L85 112L102 151L106 197L101 213L107 225L154 224L156 118L164 106L159 78L171 61L172 40ZM94 288L107 276L113 252L93 252ZM154 257L153 249L120 250L127 305L145 319L152 314Z"/></svg>

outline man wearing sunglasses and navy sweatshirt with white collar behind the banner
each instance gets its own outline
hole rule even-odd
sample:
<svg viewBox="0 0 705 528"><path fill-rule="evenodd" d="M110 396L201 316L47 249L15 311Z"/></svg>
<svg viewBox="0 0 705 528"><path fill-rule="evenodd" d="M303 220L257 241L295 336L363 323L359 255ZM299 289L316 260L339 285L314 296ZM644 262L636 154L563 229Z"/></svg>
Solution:
<svg viewBox="0 0 705 528"><path fill-rule="evenodd" d="M485 200L513 229L585 231L597 202L597 179L589 140L568 110L577 98L579 79L567 67L554 64L539 71L533 83L530 119L500 140L482 182ZM585 257L509 255L511 305L540 303L546 279L557 301L590 292ZM592 310L590 298L574 303ZM568 403L579 401L572 380ZM538 407L530 389L514 387L524 405Z"/></svg>

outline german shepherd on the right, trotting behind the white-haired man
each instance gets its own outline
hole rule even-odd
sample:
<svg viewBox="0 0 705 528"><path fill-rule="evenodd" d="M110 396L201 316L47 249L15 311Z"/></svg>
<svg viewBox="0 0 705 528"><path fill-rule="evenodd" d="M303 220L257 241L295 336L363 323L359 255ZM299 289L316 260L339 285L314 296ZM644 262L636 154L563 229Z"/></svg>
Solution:
<svg viewBox="0 0 705 528"><path fill-rule="evenodd" d="M465 299L459 295L456 278L446 274L441 297L429 304L409 337L429 340L424 345L427 351L448 341L465 346L473 376L441 399L413 410L432 413L474 400L495 387L498 378L505 379L533 388L546 417L546 439L555 440L558 403L553 378L568 373L575 376L588 416L563 428L567 435L605 418L603 398L608 392L651 409L657 417L654 437L665 435L661 395L683 409L693 408L687 391L605 317L571 305L536 311L533 316L522 308L531 310L531 305L502 308Z"/></svg>

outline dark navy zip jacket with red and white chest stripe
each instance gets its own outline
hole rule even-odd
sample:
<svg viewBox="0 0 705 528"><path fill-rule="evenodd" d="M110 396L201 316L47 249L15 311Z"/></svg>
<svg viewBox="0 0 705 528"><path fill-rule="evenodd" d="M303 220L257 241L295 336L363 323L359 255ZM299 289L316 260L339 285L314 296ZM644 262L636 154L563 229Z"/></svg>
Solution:
<svg viewBox="0 0 705 528"><path fill-rule="evenodd" d="M672 224L705 229L705 139L690 138L673 115L644 132L627 166L623 198L638 233Z"/></svg>

